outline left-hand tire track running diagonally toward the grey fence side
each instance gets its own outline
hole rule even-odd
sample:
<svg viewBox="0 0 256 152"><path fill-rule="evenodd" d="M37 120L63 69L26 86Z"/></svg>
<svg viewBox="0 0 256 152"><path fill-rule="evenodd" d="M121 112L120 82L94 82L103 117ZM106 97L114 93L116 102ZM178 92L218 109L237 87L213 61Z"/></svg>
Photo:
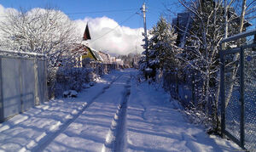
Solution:
<svg viewBox="0 0 256 152"><path fill-rule="evenodd" d="M75 121L79 117L79 115L81 115L84 112L84 110L86 110L90 106L90 104L94 103L94 101L98 99L103 93L105 93L106 90L108 90L108 88L112 86L113 82L116 82L121 76L122 74L114 78L113 81L108 84L108 86L103 87L102 92L96 94L96 96L93 99L91 99L90 102L84 103L82 105L82 108L79 108L79 111L77 113L71 115L68 121L58 126L59 127L58 130L56 130L55 132L46 132L46 135L44 136L44 138L40 138L40 140L37 141L38 145L33 147L31 151L34 151L34 152L43 151L58 135L61 134L61 132L64 132L67 129L67 127L69 127L70 124L73 123L73 121ZM29 147L29 146L26 146L26 147ZM26 149L24 147L21 151L26 151L26 150L29 150L29 149Z"/></svg>

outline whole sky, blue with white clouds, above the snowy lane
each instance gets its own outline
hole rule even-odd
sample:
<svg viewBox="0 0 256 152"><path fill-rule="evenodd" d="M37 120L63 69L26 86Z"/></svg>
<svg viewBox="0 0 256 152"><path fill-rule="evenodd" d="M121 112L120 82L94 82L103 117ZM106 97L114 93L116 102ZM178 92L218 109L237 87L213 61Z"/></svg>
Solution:
<svg viewBox="0 0 256 152"><path fill-rule="evenodd" d="M74 20L79 37L89 24L91 48L111 54L142 53L143 16L136 13L141 12L144 2L148 8L148 30L166 12L166 6L175 13L183 11L175 4L177 0L0 0L0 20L4 20L6 8L58 8Z"/></svg>

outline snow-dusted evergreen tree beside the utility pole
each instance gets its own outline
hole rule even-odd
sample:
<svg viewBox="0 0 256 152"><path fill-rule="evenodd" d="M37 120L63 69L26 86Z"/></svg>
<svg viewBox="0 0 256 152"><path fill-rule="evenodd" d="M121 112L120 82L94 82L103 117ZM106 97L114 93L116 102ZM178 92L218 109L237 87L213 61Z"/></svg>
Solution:
<svg viewBox="0 0 256 152"><path fill-rule="evenodd" d="M152 37L148 40L148 67L152 69L151 76L154 78L156 70L172 70L177 66L177 34L162 16L149 34Z"/></svg>

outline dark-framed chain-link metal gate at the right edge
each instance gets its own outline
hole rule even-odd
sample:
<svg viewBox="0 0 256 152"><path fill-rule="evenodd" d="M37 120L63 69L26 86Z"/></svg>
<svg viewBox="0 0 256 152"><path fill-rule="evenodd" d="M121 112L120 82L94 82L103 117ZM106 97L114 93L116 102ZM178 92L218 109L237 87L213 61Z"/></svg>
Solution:
<svg viewBox="0 0 256 152"><path fill-rule="evenodd" d="M220 51L221 132L242 149L256 150L256 44L247 37L256 30L224 39L246 44ZM254 36L255 37L255 36ZM239 40L239 41L238 41Z"/></svg>

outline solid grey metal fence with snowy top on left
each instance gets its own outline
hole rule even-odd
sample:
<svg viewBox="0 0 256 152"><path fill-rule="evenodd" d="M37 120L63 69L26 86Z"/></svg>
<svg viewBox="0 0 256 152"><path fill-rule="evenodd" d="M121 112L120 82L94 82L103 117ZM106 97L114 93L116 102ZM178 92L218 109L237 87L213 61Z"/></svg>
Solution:
<svg viewBox="0 0 256 152"><path fill-rule="evenodd" d="M47 101L43 54L0 51L0 121Z"/></svg>

